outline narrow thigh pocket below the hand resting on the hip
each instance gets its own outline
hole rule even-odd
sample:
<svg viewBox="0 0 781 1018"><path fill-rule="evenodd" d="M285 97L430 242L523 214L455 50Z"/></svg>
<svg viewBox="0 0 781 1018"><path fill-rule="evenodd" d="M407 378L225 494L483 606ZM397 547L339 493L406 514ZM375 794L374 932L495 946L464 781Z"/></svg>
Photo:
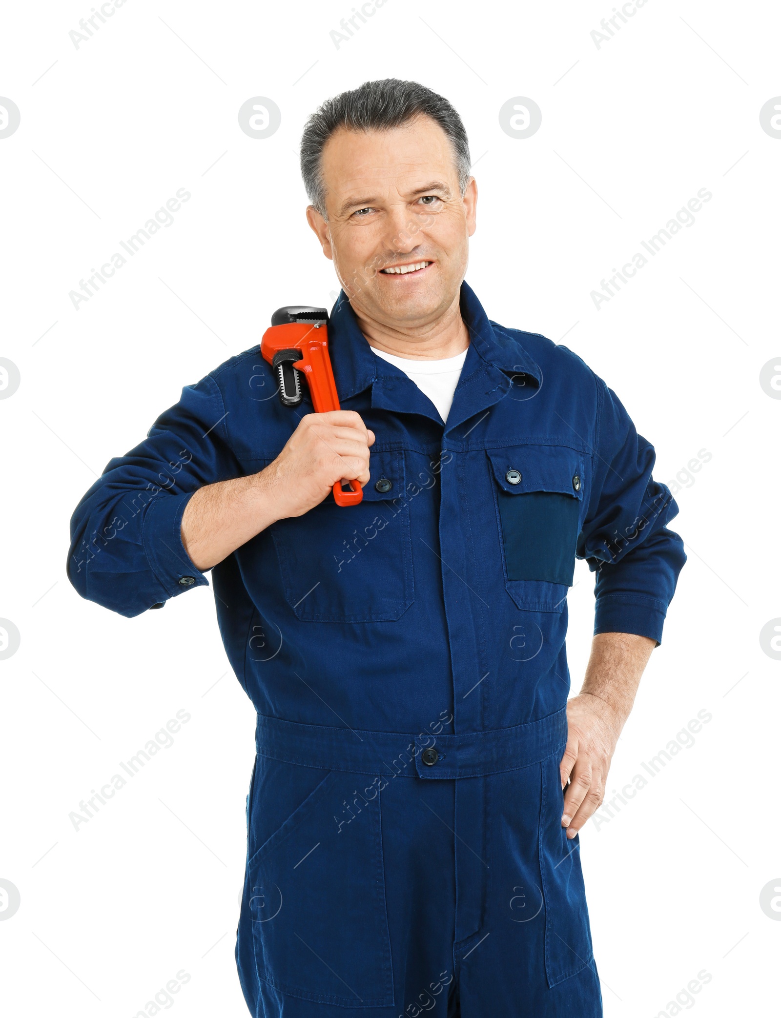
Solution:
<svg viewBox="0 0 781 1018"><path fill-rule="evenodd" d="M542 762L540 871L545 900L545 971L555 986L593 965L592 935L577 837L569 840L561 826L564 794L561 751Z"/></svg>

